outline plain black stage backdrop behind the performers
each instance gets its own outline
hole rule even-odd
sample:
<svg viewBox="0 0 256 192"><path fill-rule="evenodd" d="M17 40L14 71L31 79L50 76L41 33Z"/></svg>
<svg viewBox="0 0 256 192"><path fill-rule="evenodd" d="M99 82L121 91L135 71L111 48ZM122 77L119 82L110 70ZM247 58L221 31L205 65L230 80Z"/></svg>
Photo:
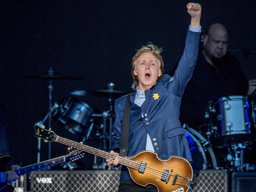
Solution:
<svg viewBox="0 0 256 192"><path fill-rule="evenodd" d="M2 2L2 57L0 63L0 102L13 162L22 166L37 159L37 139L33 126L48 111L48 80L22 79L41 75L52 67L59 75L83 80L53 80L53 101L69 98L72 90L115 88L131 92L130 67L135 49L148 41L163 47L165 71L169 73L182 55L190 18L189 1L169 0L61 0ZM202 5L202 27L214 22L227 26L230 50L239 59L247 78L256 78L256 55L245 55L245 48L256 50L256 3L254 0L210 1ZM240 50L240 51L239 51ZM239 78L239 77L237 77ZM108 110L107 98L85 96L96 113ZM47 126L47 124L46 124ZM57 121L56 134L73 140ZM88 144L98 146L96 130ZM65 147L52 143L52 157ZM42 142L41 160L48 159ZM85 164L93 163L86 155Z"/></svg>

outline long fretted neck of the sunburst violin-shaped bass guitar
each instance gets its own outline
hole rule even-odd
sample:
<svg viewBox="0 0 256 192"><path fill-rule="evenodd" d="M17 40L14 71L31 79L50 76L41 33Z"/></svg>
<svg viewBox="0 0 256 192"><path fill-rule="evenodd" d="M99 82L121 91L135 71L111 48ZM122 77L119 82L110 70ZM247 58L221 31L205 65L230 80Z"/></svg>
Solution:
<svg viewBox="0 0 256 192"><path fill-rule="evenodd" d="M91 153L91 154L96 155L98 157L102 157L104 159L115 159L115 157L117 156L117 155L111 155L107 151L99 150L97 148L94 148L94 147L91 147L91 146L88 146L88 145L85 145L85 144L81 144L79 142L75 142L73 140L63 138L63 137L59 137L59 136L56 138L55 141L58 142L58 143L67 145L67 146L74 147L78 150L82 150L82 151L85 151L87 153ZM127 167L130 167L130 168L133 168L135 170L138 170L138 166L137 166L138 162L137 161L133 161L133 160L127 159L125 157L119 157L119 158L120 158L120 161L119 161L120 164L122 164L124 166L127 166Z"/></svg>

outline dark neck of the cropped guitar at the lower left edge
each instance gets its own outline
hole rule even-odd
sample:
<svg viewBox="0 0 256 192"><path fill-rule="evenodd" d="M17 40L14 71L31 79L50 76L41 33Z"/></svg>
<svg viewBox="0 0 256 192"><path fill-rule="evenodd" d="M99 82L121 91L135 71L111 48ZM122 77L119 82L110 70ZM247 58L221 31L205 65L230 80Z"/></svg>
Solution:
<svg viewBox="0 0 256 192"><path fill-rule="evenodd" d="M62 163L62 162L65 162L65 156L56 157L54 159L50 159L50 160L47 160L47 161L42 161L42 162L39 162L39 163L36 163L36 164L32 164L32 165L22 167L19 170L12 170L12 171L15 172L17 175L24 175L24 174L29 174L33 171L41 170L45 167L52 166L52 165L55 165L55 164L59 164L59 163ZM8 172L6 172L6 173L8 173Z"/></svg>

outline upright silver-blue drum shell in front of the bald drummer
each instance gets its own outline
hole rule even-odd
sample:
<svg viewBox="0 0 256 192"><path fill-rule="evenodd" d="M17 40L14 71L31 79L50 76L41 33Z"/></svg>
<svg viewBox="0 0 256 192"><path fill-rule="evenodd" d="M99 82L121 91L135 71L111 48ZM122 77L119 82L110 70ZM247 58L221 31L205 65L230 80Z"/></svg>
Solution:
<svg viewBox="0 0 256 192"><path fill-rule="evenodd" d="M228 96L217 100L217 120L222 136L249 134L249 103L247 96Z"/></svg>

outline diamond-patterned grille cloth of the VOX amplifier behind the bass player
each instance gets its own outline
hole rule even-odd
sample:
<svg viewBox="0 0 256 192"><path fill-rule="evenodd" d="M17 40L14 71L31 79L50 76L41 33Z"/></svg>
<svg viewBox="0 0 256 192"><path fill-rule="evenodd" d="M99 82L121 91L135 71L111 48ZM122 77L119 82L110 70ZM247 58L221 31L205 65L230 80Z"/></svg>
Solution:
<svg viewBox="0 0 256 192"><path fill-rule="evenodd" d="M193 192L227 192L225 170L194 171ZM37 171L33 172L32 192L117 192L120 171Z"/></svg>

